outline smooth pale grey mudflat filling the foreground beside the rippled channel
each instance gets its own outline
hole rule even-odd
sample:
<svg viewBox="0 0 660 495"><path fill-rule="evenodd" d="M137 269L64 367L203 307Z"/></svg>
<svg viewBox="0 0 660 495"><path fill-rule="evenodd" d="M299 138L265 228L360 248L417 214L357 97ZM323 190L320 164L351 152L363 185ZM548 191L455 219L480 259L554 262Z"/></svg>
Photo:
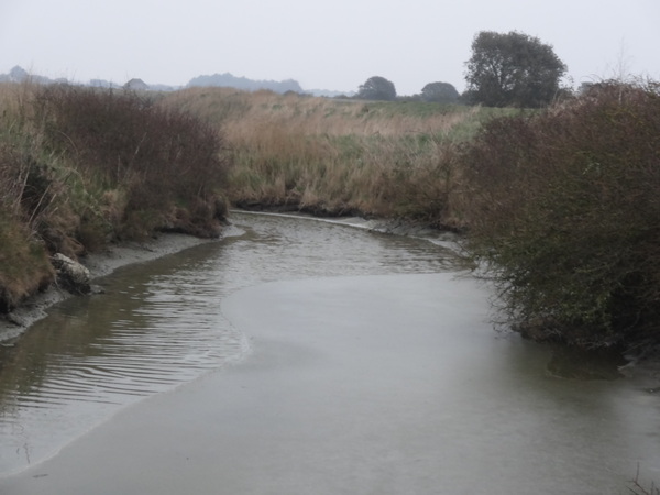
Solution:
<svg viewBox="0 0 660 495"><path fill-rule="evenodd" d="M615 495L637 465L650 484L654 396L548 377L548 348L492 331L488 294L451 273L233 293L222 312L248 359L123 409L0 492Z"/></svg>

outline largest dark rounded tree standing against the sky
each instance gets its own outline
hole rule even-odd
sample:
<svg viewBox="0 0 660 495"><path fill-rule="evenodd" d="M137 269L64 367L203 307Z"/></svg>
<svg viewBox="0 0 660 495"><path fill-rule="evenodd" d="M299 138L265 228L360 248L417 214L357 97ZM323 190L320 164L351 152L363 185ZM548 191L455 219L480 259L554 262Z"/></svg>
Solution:
<svg viewBox="0 0 660 495"><path fill-rule="evenodd" d="M543 107L559 91L566 66L538 37L480 32L465 63L466 95L488 107Z"/></svg>

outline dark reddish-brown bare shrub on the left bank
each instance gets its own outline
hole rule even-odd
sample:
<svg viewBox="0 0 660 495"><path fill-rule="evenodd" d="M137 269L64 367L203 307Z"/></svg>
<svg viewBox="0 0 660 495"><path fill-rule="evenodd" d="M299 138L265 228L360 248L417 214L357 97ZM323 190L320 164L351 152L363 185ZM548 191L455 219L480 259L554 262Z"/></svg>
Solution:
<svg viewBox="0 0 660 495"><path fill-rule="evenodd" d="M112 213L116 233L218 233L215 207L227 162L216 128L144 96L74 86L43 87L35 109L46 146L97 190L98 209Z"/></svg>

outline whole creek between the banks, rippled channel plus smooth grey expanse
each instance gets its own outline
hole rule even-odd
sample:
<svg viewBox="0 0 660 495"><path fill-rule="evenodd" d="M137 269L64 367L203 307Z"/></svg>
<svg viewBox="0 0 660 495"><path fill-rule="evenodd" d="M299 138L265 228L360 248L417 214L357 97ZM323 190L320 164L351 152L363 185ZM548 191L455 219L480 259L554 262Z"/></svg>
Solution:
<svg viewBox="0 0 660 495"><path fill-rule="evenodd" d="M487 287L451 251L310 219L232 221L0 349L0 493L618 494L638 466L660 480L654 389L550 373L549 348L493 329ZM182 427L195 418L199 431ZM169 433L141 438L154 422ZM131 426L136 444L116 444ZM174 438L200 459L188 477L180 455L161 459ZM119 465L113 449L136 457L76 484L70 465ZM227 488L209 492L209 473Z"/></svg>

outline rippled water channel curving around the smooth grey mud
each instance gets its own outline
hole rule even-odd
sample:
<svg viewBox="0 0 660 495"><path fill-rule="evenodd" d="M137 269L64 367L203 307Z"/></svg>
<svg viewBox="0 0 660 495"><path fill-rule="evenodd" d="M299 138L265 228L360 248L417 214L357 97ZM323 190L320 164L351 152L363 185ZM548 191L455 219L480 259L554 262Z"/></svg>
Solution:
<svg viewBox="0 0 660 495"><path fill-rule="evenodd" d="M240 234L120 270L0 346L0 473L56 452L120 407L249 352L219 310L232 292L292 278L433 273L421 240L311 220L234 215Z"/></svg>

